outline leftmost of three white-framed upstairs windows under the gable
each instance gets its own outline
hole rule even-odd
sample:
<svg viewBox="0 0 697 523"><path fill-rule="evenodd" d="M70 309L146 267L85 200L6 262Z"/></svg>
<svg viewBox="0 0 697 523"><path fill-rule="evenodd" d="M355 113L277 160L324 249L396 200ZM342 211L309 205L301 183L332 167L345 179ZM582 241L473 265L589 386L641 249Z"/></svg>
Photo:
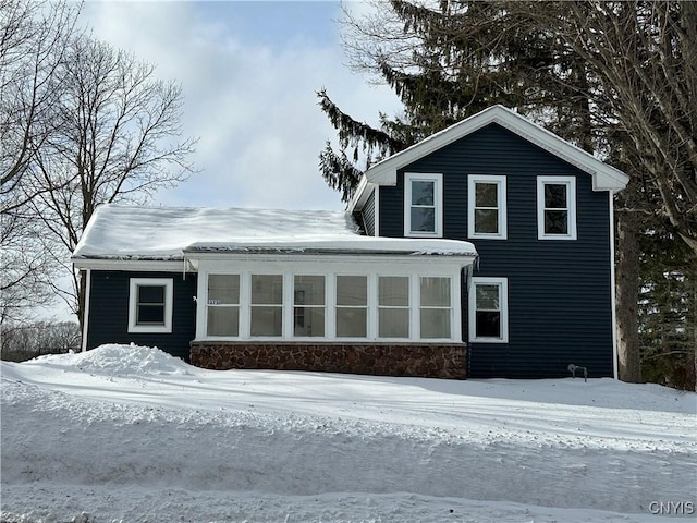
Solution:
<svg viewBox="0 0 697 523"><path fill-rule="evenodd" d="M404 174L404 235L442 236L442 174Z"/></svg>

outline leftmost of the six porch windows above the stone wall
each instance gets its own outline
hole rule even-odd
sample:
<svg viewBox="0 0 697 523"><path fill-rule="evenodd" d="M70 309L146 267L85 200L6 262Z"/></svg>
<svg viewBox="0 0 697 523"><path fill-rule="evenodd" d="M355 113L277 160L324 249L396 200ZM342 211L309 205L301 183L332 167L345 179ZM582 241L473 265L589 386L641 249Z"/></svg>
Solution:
<svg viewBox="0 0 697 523"><path fill-rule="evenodd" d="M240 275L208 275L208 336L240 336Z"/></svg>

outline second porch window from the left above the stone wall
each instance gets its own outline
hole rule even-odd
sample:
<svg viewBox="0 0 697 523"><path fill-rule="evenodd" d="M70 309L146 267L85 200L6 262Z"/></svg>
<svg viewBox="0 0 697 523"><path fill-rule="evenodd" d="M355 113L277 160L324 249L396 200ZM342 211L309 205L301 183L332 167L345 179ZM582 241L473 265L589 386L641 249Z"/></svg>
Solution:
<svg viewBox="0 0 697 523"><path fill-rule="evenodd" d="M283 336L283 276L252 275L252 336Z"/></svg>

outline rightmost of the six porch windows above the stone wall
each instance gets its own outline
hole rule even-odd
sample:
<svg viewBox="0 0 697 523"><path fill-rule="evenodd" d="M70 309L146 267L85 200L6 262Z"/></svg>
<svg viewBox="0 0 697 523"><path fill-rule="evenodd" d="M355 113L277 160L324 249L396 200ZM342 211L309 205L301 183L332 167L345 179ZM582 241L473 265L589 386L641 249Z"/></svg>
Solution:
<svg viewBox="0 0 697 523"><path fill-rule="evenodd" d="M424 339L450 338L452 300L451 279L440 277L420 278L420 333Z"/></svg>

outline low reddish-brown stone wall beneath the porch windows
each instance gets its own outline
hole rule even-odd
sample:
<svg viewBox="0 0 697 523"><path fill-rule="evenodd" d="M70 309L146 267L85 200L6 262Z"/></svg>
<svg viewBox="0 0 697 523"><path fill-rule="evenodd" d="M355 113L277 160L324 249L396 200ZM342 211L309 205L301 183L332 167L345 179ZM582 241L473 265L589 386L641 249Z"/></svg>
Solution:
<svg viewBox="0 0 697 523"><path fill-rule="evenodd" d="M465 379L463 344L245 343L193 341L198 367L265 368L377 376Z"/></svg>

